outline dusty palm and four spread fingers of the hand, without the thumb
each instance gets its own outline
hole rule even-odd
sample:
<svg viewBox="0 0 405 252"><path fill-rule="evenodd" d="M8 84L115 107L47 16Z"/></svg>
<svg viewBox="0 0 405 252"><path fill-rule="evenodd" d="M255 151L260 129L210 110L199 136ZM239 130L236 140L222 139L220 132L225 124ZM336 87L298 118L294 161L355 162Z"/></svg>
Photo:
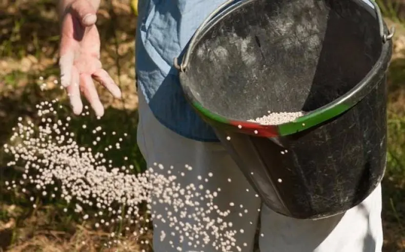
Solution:
<svg viewBox="0 0 405 252"><path fill-rule="evenodd" d="M67 87L73 111L83 110L80 90L98 116L104 114L92 78L102 83L114 96L120 90L99 60L100 37L95 25L84 27L72 13L67 13L62 23L60 43L60 69L62 84Z"/></svg>

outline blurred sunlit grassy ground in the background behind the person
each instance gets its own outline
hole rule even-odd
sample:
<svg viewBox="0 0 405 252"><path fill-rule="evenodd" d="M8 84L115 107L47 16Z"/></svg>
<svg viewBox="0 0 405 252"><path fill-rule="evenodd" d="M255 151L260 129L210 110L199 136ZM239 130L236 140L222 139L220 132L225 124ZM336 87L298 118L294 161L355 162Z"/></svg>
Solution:
<svg viewBox="0 0 405 252"><path fill-rule="evenodd" d="M383 2L382 2L383 1ZM384 252L405 251L405 28L402 26L402 6L391 0L380 0L389 24L395 24L395 53L389 69L389 147L388 169L383 180ZM98 88L106 113L100 121L94 117L73 120L77 141L91 146L88 128L103 125L106 131L126 132L128 137L120 153L109 158L123 163L126 153L137 171L145 162L136 146L137 95L134 86L134 34L136 18L129 1L103 1L98 26L102 37L102 62L123 90L124 98L115 100L103 88ZM53 0L0 1L0 146L9 139L18 117L38 121L34 106L39 101L66 98L57 88L58 24ZM405 17L405 15L404 15ZM46 29L44 29L46 27ZM40 80L43 76L44 80ZM47 84L45 91L40 90ZM62 104L66 105L66 99ZM71 115L62 110L58 116ZM100 143L104 148L113 139ZM0 251L112 251L108 243L110 230L95 230L92 221L84 221L66 202L35 197L37 208L21 193L6 190L5 180L17 178L21 170L6 168L7 157L0 147ZM33 188L34 191L34 188ZM68 211L64 212L64 208ZM149 234L150 235L150 234ZM130 236L128 236L130 237ZM120 238L112 244L114 251L139 251L148 246L131 238ZM125 243L125 244L124 244Z"/></svg>

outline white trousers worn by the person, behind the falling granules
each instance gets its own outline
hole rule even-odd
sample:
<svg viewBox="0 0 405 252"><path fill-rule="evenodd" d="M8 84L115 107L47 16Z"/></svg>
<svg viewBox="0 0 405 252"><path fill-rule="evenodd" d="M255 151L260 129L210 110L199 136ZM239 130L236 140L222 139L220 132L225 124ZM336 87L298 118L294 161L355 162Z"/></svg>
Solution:
<svg viewBox="0 0 405 252"><path fill-rule="evenodd" d="M243 218L239 217L237 211L227 217L228 221L234 223L233 229L244 229L243 234L235 236L242 248L241 251L253 251L259 214L261 252L381 251L381 186L378 186L365 201L345 214L316 221L281 216L268 207L261 206L259 198L254 197L253 189L220 143L190 140L167 129L156 120L142 94L139 94L138 145L148 167L153 166L155 162L164 167L174 166L174 171L176 169L183 171L186 164L192 166L192 171L188 171L186 176L177 176L180 183L197 185L198 176L206 178L209 172L214 173L205 188L210 190L221 188L216 198L219 208L227 210L229 203L234 202L235 205L244 205L244 209L248 210L248 214ZM228 181L229 178L231 183ZM167 215L165 206L157 204L153 207L152 210L157 214ZM257 209L260 207L259 212ZM154 251L177 251L169 244L170 240L179 241L176 237L170 237L174 227L169 227L168 223L156 222ZM168 236L163 241L160 240L161 231L165 231ZM182 251L218 251L214 247L207 246L189 247L187 242L177 243L176 246L181 246Z"/></svg>

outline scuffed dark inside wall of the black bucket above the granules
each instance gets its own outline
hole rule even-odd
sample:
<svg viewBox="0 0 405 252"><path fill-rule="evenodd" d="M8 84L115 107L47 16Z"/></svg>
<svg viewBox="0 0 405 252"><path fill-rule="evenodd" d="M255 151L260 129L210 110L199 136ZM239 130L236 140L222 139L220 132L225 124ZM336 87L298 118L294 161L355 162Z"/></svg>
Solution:
<svg viewBox="0 0 405 252"><path fill-rule="evenodd" d="M311 111L355 87L381 44L375 11L362 1L249 1L212 24L180 78L228 119Z"/></svg>

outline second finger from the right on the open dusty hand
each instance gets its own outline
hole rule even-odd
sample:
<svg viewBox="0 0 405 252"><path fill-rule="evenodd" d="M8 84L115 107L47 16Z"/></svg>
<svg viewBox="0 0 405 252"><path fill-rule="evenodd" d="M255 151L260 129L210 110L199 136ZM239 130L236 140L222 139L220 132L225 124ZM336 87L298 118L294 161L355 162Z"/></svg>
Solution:
<svg viewBox="0 0 405 252"><path fill-rule="evenodd" d="M104 107L100 102L97 90L90 75L80 74L80 87L82 87L82 91L97 117L102 117L104 115Z"/></svg>

